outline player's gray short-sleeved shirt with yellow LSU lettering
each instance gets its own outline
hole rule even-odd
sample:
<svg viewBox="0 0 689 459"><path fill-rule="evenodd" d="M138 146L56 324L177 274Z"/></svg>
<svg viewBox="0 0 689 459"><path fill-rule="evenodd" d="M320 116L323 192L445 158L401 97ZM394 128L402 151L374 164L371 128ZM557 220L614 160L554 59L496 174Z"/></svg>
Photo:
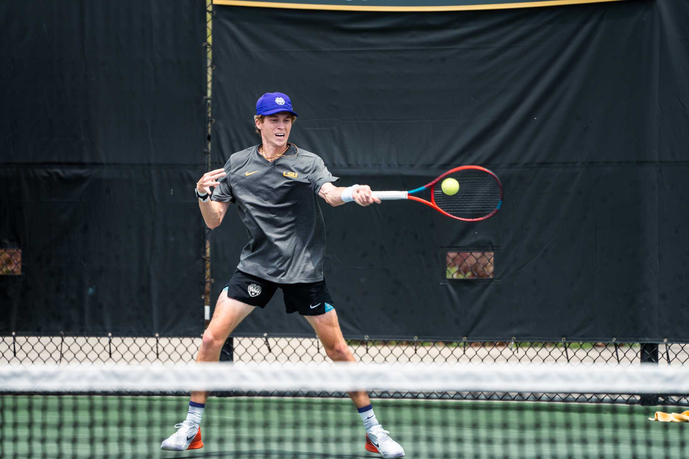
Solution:
<svg viewBox="0 0 689 459"><path fill-rule="evenodd" d="M236 202L249 231L237 268L280 284L322 281L325 223L318 191L339 180L323 160L291 145L270 162L256 145L232 154L225 172L211 199Z"/></svg>

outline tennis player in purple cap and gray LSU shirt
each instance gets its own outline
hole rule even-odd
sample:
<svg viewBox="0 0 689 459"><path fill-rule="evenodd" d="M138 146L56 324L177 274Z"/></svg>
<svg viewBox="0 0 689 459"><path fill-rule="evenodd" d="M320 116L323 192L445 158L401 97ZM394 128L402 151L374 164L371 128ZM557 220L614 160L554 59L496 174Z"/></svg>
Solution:
<svg viewBox="0 0 689 459"><path fill-rule="evenodd" d="M354 361L323 277L325 223L316 196L331 206L351 201L369 206L380 200L371 196L366 185L333 185L339 179L317 155L287 142L296 118L286 94L264 94L254 116L261 144L234 153L223 169L205 173L196 184L209 228L219 226L229 204L236 203L251 235L237 270L218 298L197 362L217 362L232 330L256 307L265 308L278 288L287 313L305 317L333 361ZM365 448L386 459L402 458L404 449L378 423L367 393L350 392L349 396L366 429ZM178 431L161 449L203 447L200 422L207 397L207 392L192 392L186 420L174 426Z"/></svg>

